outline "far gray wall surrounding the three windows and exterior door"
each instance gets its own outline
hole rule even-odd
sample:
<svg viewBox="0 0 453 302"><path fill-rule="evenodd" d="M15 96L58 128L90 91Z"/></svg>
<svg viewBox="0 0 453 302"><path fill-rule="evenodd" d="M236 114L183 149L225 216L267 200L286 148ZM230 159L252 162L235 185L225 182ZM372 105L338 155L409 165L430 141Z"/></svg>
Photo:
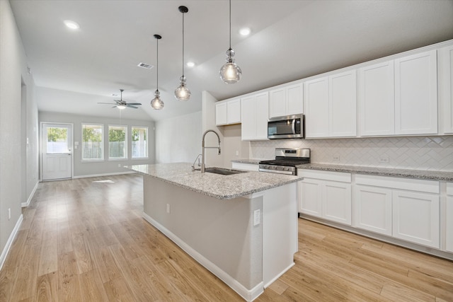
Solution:
<svg viewBox="0 0 453 302"><path fill-rule="evenodd" d="M83 115L70 115L59 112L39 112L40 122L60 122L73 124L74 141L79 141L79 148L74 149L74 178L97 176L97 175L111 175L117 173L130 172L122 167L118 167L118 164L123 165L141 165L147 163L154 163L155 160L155 135L154 135L154 122L144 120L125 120L115 119L108 117L92 117ZM82 123L93 123L93 124L104 124L104 161L102 162L82 162L81 161L81 129ZM123 125L128 126L127 137L128 146L127 154L129 159L127 161L108 161L108 125ZM149 139L149 153L148 159L130 159L131 155L131 126L145 126L148 127L148 139Z"/></svg>

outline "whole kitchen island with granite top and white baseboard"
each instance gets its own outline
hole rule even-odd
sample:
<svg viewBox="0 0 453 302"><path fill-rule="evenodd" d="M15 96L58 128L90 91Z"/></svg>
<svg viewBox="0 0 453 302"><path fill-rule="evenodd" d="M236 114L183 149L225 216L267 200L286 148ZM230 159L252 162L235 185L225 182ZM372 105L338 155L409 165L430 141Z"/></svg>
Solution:
<svg viewBox="0 0 453 302"><path fill-rule="evenodd" d="M294 265L302 178L200 173L190 163L127 168L144 175L144 219L246 301Z"/></svg>

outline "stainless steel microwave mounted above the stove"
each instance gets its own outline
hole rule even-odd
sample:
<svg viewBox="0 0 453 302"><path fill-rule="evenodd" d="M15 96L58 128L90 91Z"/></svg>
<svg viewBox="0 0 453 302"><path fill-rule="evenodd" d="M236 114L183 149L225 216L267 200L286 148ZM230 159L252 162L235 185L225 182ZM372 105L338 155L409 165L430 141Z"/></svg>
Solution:
<svg viewBox="0 0 453 302"><path fill-rule="evenodd" d="M303 139L304 115L273 117L268 121L268 139Z"/></svg>

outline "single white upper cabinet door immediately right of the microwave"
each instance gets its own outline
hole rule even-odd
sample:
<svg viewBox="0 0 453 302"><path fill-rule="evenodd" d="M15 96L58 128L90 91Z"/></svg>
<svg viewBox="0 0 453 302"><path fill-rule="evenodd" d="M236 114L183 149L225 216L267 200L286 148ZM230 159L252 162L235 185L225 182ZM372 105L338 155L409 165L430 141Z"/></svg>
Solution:
<svg viewBox="0 0 453 302"><path fill-rule="evenodd" d="M304 83L305 136L328 137L328 78Z"/></svg>

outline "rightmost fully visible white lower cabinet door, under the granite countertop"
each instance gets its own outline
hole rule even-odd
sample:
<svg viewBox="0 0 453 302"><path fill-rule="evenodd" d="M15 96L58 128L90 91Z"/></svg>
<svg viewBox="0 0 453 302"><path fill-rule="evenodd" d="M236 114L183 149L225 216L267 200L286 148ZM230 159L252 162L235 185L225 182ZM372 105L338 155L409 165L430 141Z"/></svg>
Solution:
<svg viewBox="0 0 453 302"><path fill-rule="evenodd" d="M439 196L393 192L393 236L439 248Z"/></svg>

